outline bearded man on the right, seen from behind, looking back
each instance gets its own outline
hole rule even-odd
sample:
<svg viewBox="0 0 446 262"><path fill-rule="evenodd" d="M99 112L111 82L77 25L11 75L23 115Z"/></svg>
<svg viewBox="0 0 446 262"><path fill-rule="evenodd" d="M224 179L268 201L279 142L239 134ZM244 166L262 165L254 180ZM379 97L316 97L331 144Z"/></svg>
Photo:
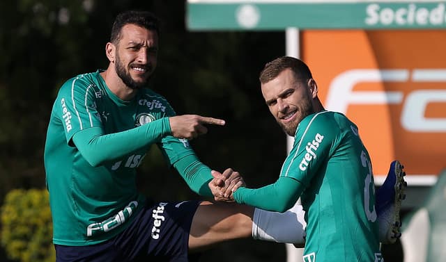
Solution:
<svg viewBox="0 0 446 262"><path fill-rule="evenodd" d="M260 82L270 113L295 138L293 148L275 183L257 189L242 186L233 198L222 193L216 199L284 212L301 197L307 222L304 261L383 261L371 161L357 126L323 108L312 72L299 59L272 60ZM406 186L398 161L392 163L392 172L393 185ZM231 173L229 169L222 175ZM394 197L401 202L403 196Z"/></svg>

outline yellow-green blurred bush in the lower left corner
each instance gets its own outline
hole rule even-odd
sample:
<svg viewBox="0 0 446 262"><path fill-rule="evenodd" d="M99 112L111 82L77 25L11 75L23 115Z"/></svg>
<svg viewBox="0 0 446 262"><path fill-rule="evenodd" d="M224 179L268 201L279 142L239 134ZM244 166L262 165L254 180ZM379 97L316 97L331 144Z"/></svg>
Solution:
<svg viewBox="0 0 446 262"><path fill-rule="evenodd" d="M11 190L1 207L1 245L10 259L56 261L47 190Z"/></svg>

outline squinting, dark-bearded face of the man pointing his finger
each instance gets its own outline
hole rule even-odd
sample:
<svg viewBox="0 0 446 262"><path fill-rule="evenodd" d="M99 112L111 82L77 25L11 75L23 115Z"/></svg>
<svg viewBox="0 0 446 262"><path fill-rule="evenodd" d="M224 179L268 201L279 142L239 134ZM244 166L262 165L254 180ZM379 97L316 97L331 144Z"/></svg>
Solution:
<svg viewBox="0 0 446 262"><path fill-rule="evenodd" d="M126 24L115 45L116 74L128 88L139 89L147 85L157 65L158 35L156 31Z"/></svg>

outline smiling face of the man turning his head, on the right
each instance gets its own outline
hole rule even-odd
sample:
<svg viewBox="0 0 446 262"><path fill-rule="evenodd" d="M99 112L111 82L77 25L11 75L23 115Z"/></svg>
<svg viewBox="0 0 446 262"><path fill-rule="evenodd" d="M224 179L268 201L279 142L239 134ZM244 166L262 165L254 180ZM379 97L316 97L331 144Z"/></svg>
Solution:
<svg viewBox="0 0 446 262"><path fill-rule="evenodd" d="M266 105L277 123L289 136L295 136L298 124L314 113L313 100L317 97L314 79L302 82L291 69L284 69L274 79L261 83Z"/></svg>

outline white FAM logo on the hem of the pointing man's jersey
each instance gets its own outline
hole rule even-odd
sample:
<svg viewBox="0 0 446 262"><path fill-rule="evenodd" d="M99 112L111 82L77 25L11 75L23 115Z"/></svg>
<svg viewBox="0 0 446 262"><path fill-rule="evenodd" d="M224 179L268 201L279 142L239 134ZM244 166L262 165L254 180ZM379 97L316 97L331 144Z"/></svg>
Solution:
<svg viewBox="0 0 446 262"><path fill-rule="evenodd" d="M119 225L123 224L132 213L134 213L134 210L137 208L138 202L132 201L130 202L125 208L121 211L119 211L116 215L114 215L112 218L109 218L107 220L104 220L99 223L93 223L89 224L89 226L86 228L86 236L95 236L100 233L108 232Z"/></svg>

